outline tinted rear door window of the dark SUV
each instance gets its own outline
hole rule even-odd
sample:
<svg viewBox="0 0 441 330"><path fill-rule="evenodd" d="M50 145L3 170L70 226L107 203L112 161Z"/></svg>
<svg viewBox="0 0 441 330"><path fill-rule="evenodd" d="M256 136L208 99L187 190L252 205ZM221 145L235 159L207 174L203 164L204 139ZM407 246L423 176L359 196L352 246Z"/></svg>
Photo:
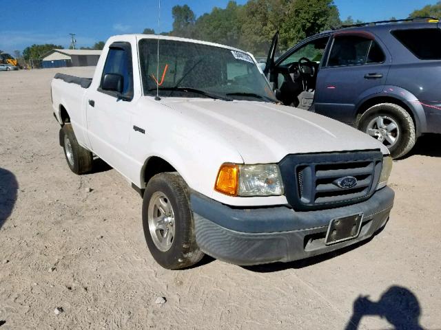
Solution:
<svg viewBox="0 0 441 330"><path fill-rule="evenodd" d="M336 36L329 54L328 67L383 63L385 59L378 43L362 36Z"/></svg>

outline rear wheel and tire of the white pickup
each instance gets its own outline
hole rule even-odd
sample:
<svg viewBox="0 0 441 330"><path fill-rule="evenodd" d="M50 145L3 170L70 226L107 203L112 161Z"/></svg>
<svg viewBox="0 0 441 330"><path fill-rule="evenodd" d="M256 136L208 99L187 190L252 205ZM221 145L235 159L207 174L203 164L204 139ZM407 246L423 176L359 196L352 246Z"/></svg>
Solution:
<svg viewBox="0 0 441 330"><path fill-rule="evenodd" d="M75 174L84 174L92 170L93 155L79 145L71 124L65 124L61 129L63 149L66 162Z"/></svg>

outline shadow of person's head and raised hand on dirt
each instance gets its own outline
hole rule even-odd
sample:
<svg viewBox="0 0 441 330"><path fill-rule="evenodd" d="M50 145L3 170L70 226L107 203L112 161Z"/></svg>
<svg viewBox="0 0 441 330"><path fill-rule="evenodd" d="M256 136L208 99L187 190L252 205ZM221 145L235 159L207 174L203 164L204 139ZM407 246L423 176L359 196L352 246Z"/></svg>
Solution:
<svg viewBox="0 0 441 330"><path fill-rule="evenodd" d="M359 296L353 303L353 314L345 329L358 329L363 316L380 316L395 329L420 330L420 314L418 298L405 287L393 286L378 302L369 300L369 296Z"/></svg>

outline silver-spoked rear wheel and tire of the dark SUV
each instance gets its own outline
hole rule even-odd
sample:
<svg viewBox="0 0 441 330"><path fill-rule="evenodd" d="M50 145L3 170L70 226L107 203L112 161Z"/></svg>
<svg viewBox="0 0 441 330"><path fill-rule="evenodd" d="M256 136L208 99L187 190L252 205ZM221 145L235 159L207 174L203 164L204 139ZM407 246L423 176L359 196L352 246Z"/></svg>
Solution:
<svg viewBox="0 0 441 330"><path fill-rule="evenodd" d="M357 127L387 146L393 158L409 153L416 142L411 115L397 104L381 103L370 107L360 116Z"/></svg>

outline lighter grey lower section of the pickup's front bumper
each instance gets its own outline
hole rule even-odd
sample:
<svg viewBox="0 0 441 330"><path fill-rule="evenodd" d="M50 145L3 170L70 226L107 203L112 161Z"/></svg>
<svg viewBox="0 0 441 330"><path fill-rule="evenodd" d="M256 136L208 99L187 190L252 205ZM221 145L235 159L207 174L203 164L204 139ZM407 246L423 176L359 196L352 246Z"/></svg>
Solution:
<svg viewBox="0 0 441 330"><path fill-rule="evenodd" d="M389 212L390 209L384 210L363 221L358 237L334 245L325 245L327 226L291 232L245 233L220 227L198 214L194 214L194 225L196 242L205 254L235 265L258 265L305 259L365 241L384 227Z"/></svg>

